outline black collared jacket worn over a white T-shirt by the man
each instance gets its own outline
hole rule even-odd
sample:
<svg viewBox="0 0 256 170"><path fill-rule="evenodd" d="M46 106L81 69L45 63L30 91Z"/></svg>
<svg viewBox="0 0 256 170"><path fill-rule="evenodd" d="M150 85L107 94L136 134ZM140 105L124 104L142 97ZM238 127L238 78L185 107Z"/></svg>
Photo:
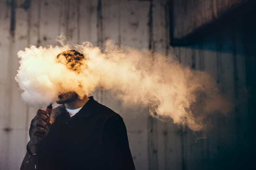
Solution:
<svg viewBox="0 0 256 170"><path fill-rule="evenodd" d="M40 170L134 170L123 119L89 97L70 118L65 106L58 112L48 135L40 144Z"/></svg>

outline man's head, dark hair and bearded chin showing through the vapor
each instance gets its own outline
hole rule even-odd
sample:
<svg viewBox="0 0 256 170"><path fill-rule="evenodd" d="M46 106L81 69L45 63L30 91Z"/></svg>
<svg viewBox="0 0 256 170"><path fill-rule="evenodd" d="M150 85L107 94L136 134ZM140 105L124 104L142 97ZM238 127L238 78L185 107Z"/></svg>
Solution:
<svg viewBox="0 0 256 170"><path fill-rule="evenodd" d="M65 64L68 69L71 69L78 73L81 71L80 66L82 65L82 60L84 59L84 55L75 50L63 51L57 55L57 60L59 63ZM78 95L74 91L70 91L64 94L59 94L56 103L70 103L75 101L76 99L78 99Z"/></svg>

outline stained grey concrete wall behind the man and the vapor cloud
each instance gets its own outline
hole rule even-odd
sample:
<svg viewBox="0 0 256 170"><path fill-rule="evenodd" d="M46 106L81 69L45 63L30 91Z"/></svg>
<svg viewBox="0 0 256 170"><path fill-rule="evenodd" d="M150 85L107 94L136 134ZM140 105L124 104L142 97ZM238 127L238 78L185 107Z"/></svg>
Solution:
<svg viewBox="0 0 256 170"><path fill-rule="evenodd" d="M192 46L169 46L168 7L164 0L7 0L0 1L0 169L19 169L29 140L36 108L21 101L14 80L17 51L29 44L56 44L64 33L73 43L90 41L103 47L116 44L176 54L180 62L209 72L221 91L243 99L228 116L213 115L208 137L172 122L149 117L146 108L123 108L107 91L96 100L125 120L130 148L138 170L190 170L223 167L236 162L233 152L247 152L246 48L241 27L225 26ZM255 37L255 35L253 35ZM237 100L238 101L238 100Z"/></svg>

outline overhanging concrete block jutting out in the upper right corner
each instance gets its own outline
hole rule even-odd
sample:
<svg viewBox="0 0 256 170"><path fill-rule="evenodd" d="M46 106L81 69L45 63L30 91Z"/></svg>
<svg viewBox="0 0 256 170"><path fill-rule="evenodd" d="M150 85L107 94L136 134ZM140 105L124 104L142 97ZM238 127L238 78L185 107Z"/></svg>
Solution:
<svg viewBox="0 0 256 170"><path fill-rule="evenodd" d="M173 38L182 39L230 12L242 13L249 0L172 0ZM239 8L239 10L236 10ZM232 14L234 15L234 13Z"/></svg>

